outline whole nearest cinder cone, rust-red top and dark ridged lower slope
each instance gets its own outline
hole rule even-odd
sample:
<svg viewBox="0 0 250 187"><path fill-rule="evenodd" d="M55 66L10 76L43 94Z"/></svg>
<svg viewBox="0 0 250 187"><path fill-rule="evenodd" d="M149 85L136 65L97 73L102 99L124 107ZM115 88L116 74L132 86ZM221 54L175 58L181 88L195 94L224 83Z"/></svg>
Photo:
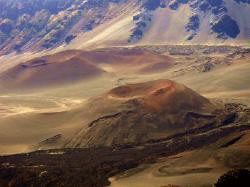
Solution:
<svg viewBox="0 0 250 187"><path fill-rule="evenodd" d="M209 112L215 108L208 99L170 80L120 86L93 102L110 105L112 112L84 126L67 147L113 146L168 137L212 123Z"/></svg>

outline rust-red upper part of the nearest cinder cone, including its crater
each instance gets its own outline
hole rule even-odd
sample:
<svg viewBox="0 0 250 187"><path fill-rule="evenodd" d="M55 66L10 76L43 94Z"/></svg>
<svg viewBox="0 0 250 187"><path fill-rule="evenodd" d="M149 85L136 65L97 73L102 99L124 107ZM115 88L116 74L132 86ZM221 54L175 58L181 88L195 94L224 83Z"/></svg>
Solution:
<svg viewBox="0 0 250 187"><path fill-rule="evenodd" d="M193 90L170 80L120 86L111 90L108 95L117 98L140 97L148 107L169 112L200 109L209 103L208 99Z"/></svg>

